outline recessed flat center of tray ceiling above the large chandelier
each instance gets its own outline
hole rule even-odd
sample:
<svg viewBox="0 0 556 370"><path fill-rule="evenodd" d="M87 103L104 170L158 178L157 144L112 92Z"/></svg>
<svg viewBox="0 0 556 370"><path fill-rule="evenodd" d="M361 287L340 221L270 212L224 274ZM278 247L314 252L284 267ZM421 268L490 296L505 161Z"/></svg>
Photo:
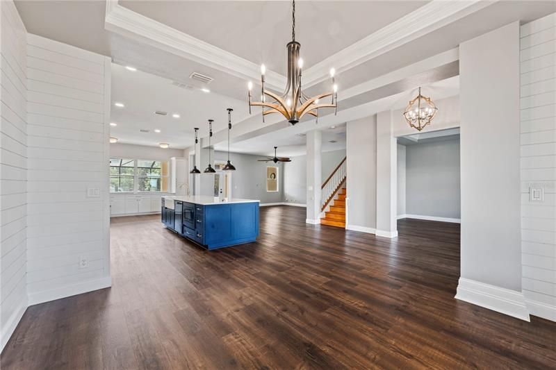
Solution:
<svg viewBox="0 0 556 370"><path fill-rule="evenodd" d="M305 66L331 56L428 1L297 1L295 39ZM291 1L120 1L183 33L286 74Z"/></svg>

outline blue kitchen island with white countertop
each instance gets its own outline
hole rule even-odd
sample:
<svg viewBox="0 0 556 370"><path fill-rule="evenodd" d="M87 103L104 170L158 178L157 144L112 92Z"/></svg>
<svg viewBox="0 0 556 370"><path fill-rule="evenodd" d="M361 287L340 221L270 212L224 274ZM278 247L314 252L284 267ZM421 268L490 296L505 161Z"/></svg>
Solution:
<svg viewBox="0 0 556 370"><path fill-rule="evenodd" d="M163 196L161 213L167 228L209 250L254 242L259 235L256 200Z"/></svg>

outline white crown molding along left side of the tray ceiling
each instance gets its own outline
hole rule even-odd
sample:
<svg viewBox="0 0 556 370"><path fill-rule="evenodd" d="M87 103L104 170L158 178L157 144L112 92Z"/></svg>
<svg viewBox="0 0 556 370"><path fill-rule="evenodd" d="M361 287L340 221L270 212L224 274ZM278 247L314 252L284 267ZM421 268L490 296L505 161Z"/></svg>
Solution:
<svg viewBox="0 0 556 370"><path fill-rule="evenodd" d="M104 28L232 76L245 78L246 81L259 81L261 78L260 66L254 62L124 8L117 0L106 1ZM286 85L286 77L267 71L265 83L270 89L281 91Z"/></svg>

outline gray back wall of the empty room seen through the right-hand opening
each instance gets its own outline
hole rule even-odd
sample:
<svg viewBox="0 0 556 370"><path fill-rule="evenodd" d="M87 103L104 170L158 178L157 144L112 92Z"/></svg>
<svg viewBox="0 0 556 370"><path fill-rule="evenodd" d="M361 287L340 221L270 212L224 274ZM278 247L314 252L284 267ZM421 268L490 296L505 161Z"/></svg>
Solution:
<svg viewBox="0 0 556 370"><path fill-rule="evenodd" d="M406 146L407 215L460 218L459 139Z"/></svg>

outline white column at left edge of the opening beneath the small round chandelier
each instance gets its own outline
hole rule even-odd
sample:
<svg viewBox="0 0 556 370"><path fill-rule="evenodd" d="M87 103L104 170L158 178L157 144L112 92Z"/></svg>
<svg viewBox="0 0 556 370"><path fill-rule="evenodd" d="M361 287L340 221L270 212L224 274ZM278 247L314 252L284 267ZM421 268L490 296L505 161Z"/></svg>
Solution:
<svg viewBox="0 0 556 370"><path fill-rule="evenodd" d="M398 143L393 137L392 112L377 114L377 230L376 235L397 237L396 187Z"/></svg>

